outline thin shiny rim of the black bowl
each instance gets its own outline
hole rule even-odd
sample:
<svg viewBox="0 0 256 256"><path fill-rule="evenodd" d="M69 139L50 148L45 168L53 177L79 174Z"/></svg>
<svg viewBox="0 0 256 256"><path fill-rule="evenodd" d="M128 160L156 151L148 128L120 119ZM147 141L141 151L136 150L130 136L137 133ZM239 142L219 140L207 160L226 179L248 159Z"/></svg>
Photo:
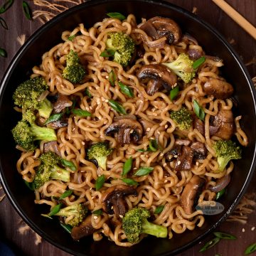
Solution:
<svg viewBox="0 0 256 256"><path fill-rule="evenodd" d="M253 85L252 80L250 78L250 74L248 73L247 68L245 67L245 64L242 63L242 60L241 60L240 56L238 55L238 53L236 53L235 50L233 49L233 47L230 46L230 43L228 43L228 41L224 38L224 36L222 36L217 31L216 28L214 28L208 22L203 20L203 18L196 16L196 14L193 14L190 11L187 11L186 9L183 9L181 6L178 6L176 4L171 4L170 2L168 2L166 0L162 0L162 1L157 1L157 0L87 0L85 3L78 4L77 6L73 6L70 9L68 9L66 11L63 11L61 14L58 14L57 16L53 17L50 21L46 22L45 24L43 24L43 26L38 28L28 38L28 40L23 44L23 46L21 46L21 48L18 49L17 53L14 55L14 58L12 58L9 66L6 69L6 71L4 73L4 76L3 76L3 78L1 79L1 82L0 82L0 105L1 105L1 102L2 102L3 92L4 92L6 86L9 82L9 79L11 78L11 75L13 73L14 68L16 67L16 65L18 65L19 60L23 56L23 53L26 52L27 48L29 48L31 46L31 44L33 43L33 41L36 40L36 38L41 36L42 33L45 33L45 31L48 31L48 29L50 29L51 27L55 26L55 24L59 23L63 18L65 18L67 16L70 16L71 14L73 14L77 11L80 11L82 9L86 9L87 7L97 6L99 4L107 4L107 3L115 3L115 2L116 3L120 3L120 2L134 2L134 3L143 2L143 3L146 3L146 4L156 4L156 5L166 6L169 9L173 9L174 11L180 12L181 14L184 14L185 16L188 16L189 18L193 19L197 23L200 23L201 25L206 27L210 31L210 33L213 33L220 40L220 42L223 43L223 46L225 46L225 48L228 49L229 53L235 59L236 63L238 63L239 68L242 71L243 75L245 76L247 84L249 85L250 93L252 95L252 100L253 100L253 104L254 104L254 109L256 110L256 103L255 103L255 101L256 101L255 100L256 99L256 92L254 90L254 85ZM162 256L170 255L170 253L171 253L171 255L176 255L176 253L181 252L181 251L185 251L189 247L192 247L193 245L196 245L197 242L203 240L203 238L206 238L206 235L211 233L215 228L217 228L221 223L223 223L223 221L225 221L226 218L228 218L228 215L230 215L230 213L232 213L232 211L235 209L235 206L238 205L240 199L244 195L247 187L249 186L250 180L252 179L252 176L254 174L255 167L256 167L255 159L256 159L256 142L255 142L255 149L254 149L254 152L253 152L252 163L250 165L250 170L248 171L247 178L245 179L245 183L243 184L242 189L240 190L240 193L235 198L235 201L230 206L230 208L228 208L226 213L215 223L215 225L210 226L210 228L208 230L203 232L196 239L191 240L191 242L188 242L186 245L183 245L183 247L178 248L176 250L173 250L172 252L163 253L163 254L161 254ZM50 236L47 233L44 233L40 228L38 228L38 226L35 223L33 223L33 221L31 221L28 218L28 216L23 211L23 209L18 205L18 202L16 201L13 193L9 189L8 184L6 183L6 178L4 177L4 171L3 171L3 168L2 168L2 165L1 165L1 161L0 161L0 181L1 181L1 185L4 188L4 192L6 193L7 197L9 198L9 201L11 202L11 205L14 207L14 209L16 210L18 215L20 215L21 218L25 221L25 223L27 223L43 239L50 242L50 244L54 245L55 247L58 247L60 250L63 250L65 252L69 252L71 254L74 253L74 251L71 250L70 248L65 247L63 245L60 245L58 242L55 242L54 240L52 240L52 238L50 238ZM76 253L76 255L82 255L82 254L80 254L80 252L75 252L75 253Z"/></svg>

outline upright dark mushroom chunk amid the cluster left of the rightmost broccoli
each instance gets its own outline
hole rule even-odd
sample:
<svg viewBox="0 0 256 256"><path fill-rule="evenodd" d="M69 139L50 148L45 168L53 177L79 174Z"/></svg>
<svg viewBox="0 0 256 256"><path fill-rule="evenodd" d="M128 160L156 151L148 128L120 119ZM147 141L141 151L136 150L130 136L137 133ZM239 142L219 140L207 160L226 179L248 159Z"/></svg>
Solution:
<svg viewBox="0 0 256 256"><path fill-rule="evenodd" d="M193 162L193 149L189 146L182 146L181 153L175 164L175 171L188 171L192 167Z"/></svg>

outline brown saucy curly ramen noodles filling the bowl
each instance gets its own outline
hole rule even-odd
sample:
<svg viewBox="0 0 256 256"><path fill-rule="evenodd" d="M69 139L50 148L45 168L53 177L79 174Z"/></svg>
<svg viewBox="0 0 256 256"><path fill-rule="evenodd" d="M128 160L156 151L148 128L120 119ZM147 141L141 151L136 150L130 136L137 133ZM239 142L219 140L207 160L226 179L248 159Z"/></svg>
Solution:
<svg viewBox="0 0 256 256"><path fill-rule="evenodd" d="M217 190L211 188L227 179L225 177L229 177L234 169L230 161L224 171L218 170L213 144L233 135L242 146L247 145L246 134L239 123L241 117L234 118L232 114L232 97L216 96L215 92L209 93L206 87L212 81L219 82L221 86L226 85L227 82L219 72L223 60L206 55L193 35L181 35L179 28L175 28L171 36L165 28L161 31L157 18L160 17L148 21L142 18L138 25L135 16L129 14L123 21L105 18L89 29L81 23L73 31L63 32L63 42L43 54L41 65L35 66L31 75L31 78L40 76L46 80L49 99L52 95L65 95L66 101L75 101L75 107L91 113L87 117L68 114L65 125L60 127L54 127L53 123L47 124L57 134L57 143L50 150L72 161L77 169L72 171L70 182L53 179L37 188L35 203L46 204L52 210L60 203L60 195L72 190L73 193L63 198L62 203L65 206L82 203L87 207L87 214L92 214L89 225L93 228L92 237L95 241L106 236L117 245L132 245L127 242L122 229L124 215L118 214L122 210L117 209L117 200L122 202L125 211L136 207L148 209L151 222L166 227L170 239L175 233L201 227L204 215L193 204L215 201ZM178 26L176 23L173 25ZM154 36L150 29L157 32L158 36ZM111 33L116 32L127 34L135 43L136 52L127 66L114 62L111 56L102 56L107 39ZM178 39L176 33L180 33ZM73 83L63 78L70 50L78 53L80 63L86 70L81 82ZM183 53L195 62L204 56L203 63L195 69L193 79L183 82L169 70L174 84L160 85L164 73L160 70L160 75L156 75L159 65L164 68L161 63L171 63ZM145 74L146 80L143 77ZM129 87L132 97L122 91L120 82L126 88ZM176 98L171 100L169 92L177 85L179 90ZM111 100L118 102L126 114L113 109ZM195 100L199 106L199 116L195 111ZM71 105L62 112L70 110ZM181 110L182 107L191 113L192 122L188 129L179 129L177 122L171 118L171 112ZM16 110L22 111L18 107ZM200 120L200 113L204 115L203 121ZM220 117L227 113L229 117ZM231 121L227 121L228 118ZM218 125L214 124L216 119L221 121ZM225 127L228 122L229 128ZM114 128L110 131L111 125ZM230 134L223 138L222 134L227 131ZM139 134L137 139L134 132ZM87 149L97 142L107 142L112 149L112 153L107 156L106 169L97 166L95 161L87 157ZM48 142L41 141L34 151L26 151L17 146L21 150L17 169L28 183L33 182L41 164L39 157L48 145ZM124 163L130 158L132 168L122 176ZM144 175L134 175L142 167L151 169ZM104 176L105 180L102 187L96 189L95 184L100 176ZM134 185L124 182L124 177L134 181ZM199 178L201 184L195 177ZM133 192L127 195L120 193L122 198L113 196L112 201L108 202L110 209L106 209L104 199L106 191L110 191L111 187L111 193L118 189L130 189ZM186 198L192 201L186 201ZM156 213L159 207L161 210ZM95 210L102 212L96 215ZM68 218L60 221L68 223Z"/></svg>

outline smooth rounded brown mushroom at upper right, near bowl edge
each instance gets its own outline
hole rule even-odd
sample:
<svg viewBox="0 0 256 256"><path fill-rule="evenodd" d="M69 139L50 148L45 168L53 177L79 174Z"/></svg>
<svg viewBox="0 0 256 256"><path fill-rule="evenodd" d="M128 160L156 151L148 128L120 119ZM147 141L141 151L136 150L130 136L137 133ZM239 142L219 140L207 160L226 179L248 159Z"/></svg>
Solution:
<svg viewBox="0 0 256 256"><path fill-rule="evenodd" d="M233 95L233 86L230 83L216 78L211 78L203 85L207 95L213 95L217 99L225 100Z"/></svg>

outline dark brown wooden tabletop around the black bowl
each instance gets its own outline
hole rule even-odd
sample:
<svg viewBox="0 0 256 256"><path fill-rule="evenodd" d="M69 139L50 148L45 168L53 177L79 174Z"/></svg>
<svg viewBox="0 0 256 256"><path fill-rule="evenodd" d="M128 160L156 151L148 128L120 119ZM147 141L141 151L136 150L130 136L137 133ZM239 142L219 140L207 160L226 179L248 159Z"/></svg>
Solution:
<svg viewBox="0 0 256 256"><path fill-rule="evenodd" d="M0 5L6 0L0 0ZM238 52L244 63L249 63L252 58L256 59L256 41L251 38L245 31L240 28L233 20L231 20L218 6L215 6L210 0L169 0L173 4L177 4L192 11L196 7L196 14L208 21L211 25L220 31L220 33L232 42L233 47ZM5 18L8 23L9 30L5 31L0 27L0 47L5 48L8 53L8 58L0 57L0 80L4 75L6 68L11 59L16 54L20 44L16 40L21 34L26 34L26 38L36 31L41 23L38 20L28 21L24 18L21 10L21 0L14 1L14 5L1 17ZM33 10L38 9L38 6L33 6L33 1L28 1ZM250 23L256 26L256 1L255 0L228 0L228 3L233 6L237 11L245 16ZM68 4L67 4L68 5ZM72 4L70 5L72 6ZM254 60L255 62L256 60ZM247 66L251 77L256 76L256 64L252 63ZM256 193L255 188L256 176L252 179L248 192ZM3 193L3 192L1 192ZM21 235L18 233L18 228L23 226L21 218L18 216L14 208L11 206L8 198L0 203L0 238L8 243L16 252L16 255L41 255L41 256L68 256L69 254L59 250L57 247L50 245L50 243L42 240L41 244L35 245L35 235L33 232L28 231ZM223 232L233 233L238 237L238 240L228 241L222 240L218 245L211 250L201 254L198 252L201 246L212 238L208 236L201 244L195 245L186 252L181 253L181 256L188 255L206 255L214 256L219 254L222 256L240 256L244 255L243 252L247 245L256 242L256 213L249 216L247 224L242 225L238 223L225 222L220 226L219 230ZM171 242L171 241L170 241ZM252 254L252 255L256 255Z"/></svg>

